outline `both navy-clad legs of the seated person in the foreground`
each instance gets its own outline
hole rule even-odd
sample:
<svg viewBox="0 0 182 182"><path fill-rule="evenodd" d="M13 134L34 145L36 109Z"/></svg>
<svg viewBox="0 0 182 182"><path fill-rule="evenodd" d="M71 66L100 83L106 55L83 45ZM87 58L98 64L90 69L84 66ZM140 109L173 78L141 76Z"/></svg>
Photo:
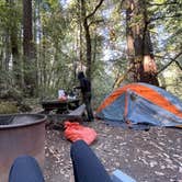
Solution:
<svg viewBox="0 0 182 182"><path fill-rule="evenodd" d="M112 182L101 161L83 140L72 144L70 156L75 182ZM33 157L21 156L11 167L9 182L44 182L44 177Z"/></svg>

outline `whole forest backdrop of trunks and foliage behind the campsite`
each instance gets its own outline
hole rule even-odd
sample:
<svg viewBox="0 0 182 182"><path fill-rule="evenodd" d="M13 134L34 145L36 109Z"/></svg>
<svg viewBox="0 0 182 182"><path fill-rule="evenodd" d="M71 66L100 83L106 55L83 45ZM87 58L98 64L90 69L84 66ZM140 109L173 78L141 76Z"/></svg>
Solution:
<svg viewBox="0 0 182 182"><path fill-rule="evenodd" d="M148 82L182 99L181 0L1 0L0 95L52 98L92 82Z"/></svg>

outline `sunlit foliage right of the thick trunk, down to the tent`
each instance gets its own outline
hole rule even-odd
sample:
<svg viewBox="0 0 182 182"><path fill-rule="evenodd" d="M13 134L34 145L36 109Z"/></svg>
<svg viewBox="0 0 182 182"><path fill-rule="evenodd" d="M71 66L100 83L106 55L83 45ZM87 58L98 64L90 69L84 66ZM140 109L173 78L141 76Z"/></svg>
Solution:
<svg viewBox="0 0 182 182"><path fill-rule="evenodd" d="M170 58L181 53L182 49L182 1L181 0L153 0L148 1L150 25L152 24L152 42L156 60L160 70ZM181 58L178 58L181 61ZM181 98L181 69L171 65L160 76L161 86L174 95Z"/></svg>

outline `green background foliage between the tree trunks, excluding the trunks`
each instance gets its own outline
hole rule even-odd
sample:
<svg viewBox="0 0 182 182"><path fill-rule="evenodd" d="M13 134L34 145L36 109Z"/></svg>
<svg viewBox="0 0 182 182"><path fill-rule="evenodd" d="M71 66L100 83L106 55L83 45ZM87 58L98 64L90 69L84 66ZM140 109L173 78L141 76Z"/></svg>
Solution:
<svg viewBox="0 0 182 182"><path fill-rule="evenodd" d="M22 1L16 0L14 3L0 1L0 86L5 89L15 87L14 77L18 72L21 75L22 87L16 86L16 88L22 90L23 73L32 69L36 75L36 90L41 98L57 98L58 89L70 90L77 84L75 73L81 66L83 69L86 67L84 30L80 26L79 1L72 0L66 4L64 2L33 1L36 65L30 64L23 67ZM93 12L98 2L98 0L86 1L87 15ZM182 2L181 0L146 0L145 2L148 13L147 29L151 34L155 55L160 57L156 58L160 69L167 64L166 58L173 57L182 49ZM121 1L104 1L88 22L92 44L94 107L111 92L116 72L125 75L129 64L126 53L126 7L127 3ZM141 15L138 13L130 26L141 23ZM15 45L19 50L20 65L15 70L13 67L15 62L12 59L12 33L16 35ZM81 52L82 62L79 60ZM109 53L111 55L106 59L105 54ZM170 69L171 72L177 72L175 68ZM181 96L181 75L178 73L174 80L173 78L173 76L163 78L163 82L168 90Z"/></svg>

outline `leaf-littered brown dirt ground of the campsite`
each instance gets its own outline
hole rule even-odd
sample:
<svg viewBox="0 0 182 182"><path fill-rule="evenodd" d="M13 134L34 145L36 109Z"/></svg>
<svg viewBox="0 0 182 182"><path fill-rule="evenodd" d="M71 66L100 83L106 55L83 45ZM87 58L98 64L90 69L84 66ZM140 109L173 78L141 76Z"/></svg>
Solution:
<svg viewBox="0 0 182 182"><path fill-rule="evenodd" d="M182 182L182 129L133 130L103 122L84 125L96 130L91 148L110 174L121 169L138 182ZM61 130L46 132L46 182L69 182L70 145Z"/></svg>

